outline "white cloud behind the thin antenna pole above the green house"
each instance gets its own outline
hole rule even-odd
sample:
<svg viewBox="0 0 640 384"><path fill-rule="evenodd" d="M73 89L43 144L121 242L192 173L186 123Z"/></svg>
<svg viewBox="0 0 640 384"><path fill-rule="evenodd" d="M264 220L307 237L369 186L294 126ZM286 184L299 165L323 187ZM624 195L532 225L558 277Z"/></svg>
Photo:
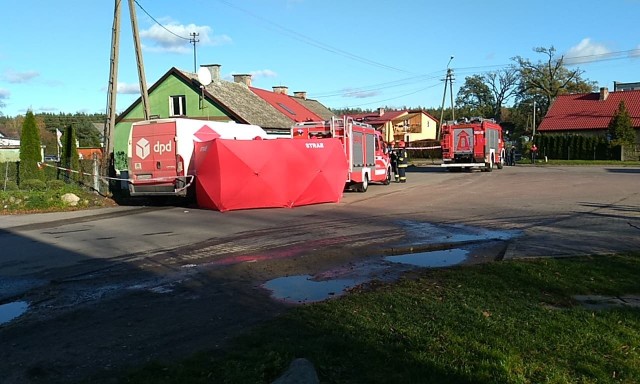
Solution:
<svg viewBox="0 0 640 384"><path fill-rule="evenodd" d="M231 42L227 35L212 36L212 29L208 26L195 24L182 25L169 21L164 26L152 25L149 29L140 31L140 37L145 39L144 48L151 52L191 53L193 45L190 42L194 38L192 33L197 33L196 44L214 46ZM197 45L196 45L197 47Z"/></svg>

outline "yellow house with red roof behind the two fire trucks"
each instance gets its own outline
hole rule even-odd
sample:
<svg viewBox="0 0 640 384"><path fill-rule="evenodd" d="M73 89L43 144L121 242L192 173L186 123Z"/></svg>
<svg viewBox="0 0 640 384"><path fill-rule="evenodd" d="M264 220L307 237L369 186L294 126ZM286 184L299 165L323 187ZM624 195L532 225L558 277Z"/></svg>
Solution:
<svg viewBox="0 0 640 384"><path fill-rule="evenodd" d="M371 124L380 132L384 140L403 140L406 143L436 138L437 120L425 111L385 111L349 115L356 121Z"/></svg>

